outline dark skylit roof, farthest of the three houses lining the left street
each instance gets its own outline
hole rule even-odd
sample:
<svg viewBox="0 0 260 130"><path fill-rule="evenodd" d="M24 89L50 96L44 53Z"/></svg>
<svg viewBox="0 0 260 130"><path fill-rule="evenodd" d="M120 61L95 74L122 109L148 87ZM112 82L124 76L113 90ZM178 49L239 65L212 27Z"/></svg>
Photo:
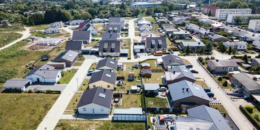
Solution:
<svg viewBox="0 0 260 130"><path fill-rule="evenodd" d="M118 60L114 60L112 58L105 58L103 60L99 60L99 63L96 65L96 69L107 66L113 69L117 69Z"/></svg>

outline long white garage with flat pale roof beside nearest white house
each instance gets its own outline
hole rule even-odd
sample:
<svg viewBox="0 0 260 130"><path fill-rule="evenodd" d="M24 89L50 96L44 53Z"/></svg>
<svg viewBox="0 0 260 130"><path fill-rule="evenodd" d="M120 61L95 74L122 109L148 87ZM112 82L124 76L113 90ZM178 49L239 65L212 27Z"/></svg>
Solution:
<svg viewBox="0 0 260 130"><path fill-rule="evenodd" d="M146 121L146 114L143 114L142 108L131 107L126 109L114 109L114 120Z"/></svg>

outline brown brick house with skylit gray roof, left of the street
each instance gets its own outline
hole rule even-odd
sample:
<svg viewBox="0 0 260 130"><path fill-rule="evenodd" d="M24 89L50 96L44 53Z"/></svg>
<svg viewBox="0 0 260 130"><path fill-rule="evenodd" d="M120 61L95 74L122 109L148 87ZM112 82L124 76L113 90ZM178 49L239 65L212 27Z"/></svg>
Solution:
<svg viewBox="0 0 260 130"><path fill-rule="evenodd" d="M79 53L75 51L65 51L60 53L52 62L62 62L65 63L66 66L72 66L74 62L77 60Z"/></svg>

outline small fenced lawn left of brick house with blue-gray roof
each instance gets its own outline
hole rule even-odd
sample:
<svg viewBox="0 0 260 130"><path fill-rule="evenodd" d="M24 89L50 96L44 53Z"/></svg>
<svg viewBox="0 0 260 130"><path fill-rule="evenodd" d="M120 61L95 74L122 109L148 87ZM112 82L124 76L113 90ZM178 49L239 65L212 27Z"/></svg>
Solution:
<svg viewBox="0 0 260 130"><path fill-rule="evenodd" d="M160 97L145 97L146 107L167 107L169 108L168 99Z"/></svg>

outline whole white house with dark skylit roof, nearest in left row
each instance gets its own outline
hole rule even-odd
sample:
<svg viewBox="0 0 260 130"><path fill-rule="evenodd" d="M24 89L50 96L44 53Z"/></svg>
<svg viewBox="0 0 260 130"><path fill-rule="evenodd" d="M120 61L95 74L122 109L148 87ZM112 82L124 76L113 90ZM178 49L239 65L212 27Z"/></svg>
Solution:
<svg viewBox="0 0 260 130"><path fill-rule="evenodd" d="M113 91L96 87L83 92L78 101L79 114L106 114L110 113Z"/></svg>

